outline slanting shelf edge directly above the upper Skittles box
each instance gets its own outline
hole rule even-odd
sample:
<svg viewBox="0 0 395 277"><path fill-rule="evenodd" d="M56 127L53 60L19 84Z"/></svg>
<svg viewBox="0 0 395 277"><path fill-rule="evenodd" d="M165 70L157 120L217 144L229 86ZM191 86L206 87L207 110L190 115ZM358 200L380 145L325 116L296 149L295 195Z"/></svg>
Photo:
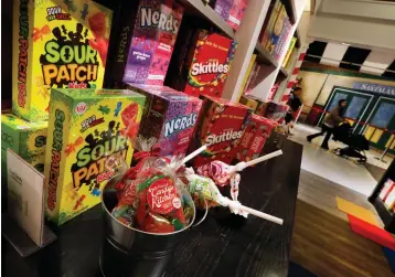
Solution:
<svg viewBox="0 0 395 277"><path fill-rule="evenodd" d="M235 32L232 26L229 26L209 4L205 4L203 0L180 0L180 2L183 3L186 12L192 12L209 20L227 36L235 39Z"/></svg>

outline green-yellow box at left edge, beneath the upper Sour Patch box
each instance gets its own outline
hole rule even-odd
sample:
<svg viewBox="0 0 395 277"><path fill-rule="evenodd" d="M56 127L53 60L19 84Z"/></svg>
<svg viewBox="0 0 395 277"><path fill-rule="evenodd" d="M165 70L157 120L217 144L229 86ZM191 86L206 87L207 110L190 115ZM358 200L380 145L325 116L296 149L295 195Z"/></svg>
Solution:
<svg viewBox="0 0 395 277"><path fill-rule="evenodd" d="M1 115L1 169L7 172L7 149L43 172L47 122L30 122L11 113Z"/></svg>

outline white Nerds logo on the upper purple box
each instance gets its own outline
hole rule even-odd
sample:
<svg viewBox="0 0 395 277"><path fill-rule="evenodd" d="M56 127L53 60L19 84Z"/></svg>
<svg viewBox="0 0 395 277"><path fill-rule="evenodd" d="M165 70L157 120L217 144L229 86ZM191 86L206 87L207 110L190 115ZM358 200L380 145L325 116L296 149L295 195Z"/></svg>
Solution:
<svg viewBox="0 0 395 277"><path fill-rule="evenodd" d="M152 11L152 8L141 7L140 9L140 26L152 28L177 34L180 28L180 21L174 19L173 14L164 14L160 11Z"/></svg>

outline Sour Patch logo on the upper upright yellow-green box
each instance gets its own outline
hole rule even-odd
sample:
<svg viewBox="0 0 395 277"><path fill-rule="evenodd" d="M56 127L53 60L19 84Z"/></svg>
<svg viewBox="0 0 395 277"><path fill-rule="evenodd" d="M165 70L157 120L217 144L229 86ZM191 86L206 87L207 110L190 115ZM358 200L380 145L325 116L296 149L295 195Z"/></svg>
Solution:
<svg viewBox="0 0 395 277"><path fill-rule="evenodd" d="M52 33L56 39L46 42L45 54L40 57L45 85L90 87L89 82L97 79L99 62L97 51L89 45L88 30L77 23L75 32L62 25Z"/></svg>

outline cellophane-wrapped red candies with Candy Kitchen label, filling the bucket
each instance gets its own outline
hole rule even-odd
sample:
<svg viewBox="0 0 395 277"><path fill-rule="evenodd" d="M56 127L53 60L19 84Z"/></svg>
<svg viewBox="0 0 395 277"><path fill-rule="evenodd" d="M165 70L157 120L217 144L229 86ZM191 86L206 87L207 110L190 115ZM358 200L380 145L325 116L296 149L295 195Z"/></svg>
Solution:
<svg viewBox="0 0 395 277"><path fill-rule="evenodd" d="M113 215L127 226L149 233L172 233L190 225L194 205L177 178L180 164L179 159L154 156L140 160L116 185L118 204Z"/></svg>

